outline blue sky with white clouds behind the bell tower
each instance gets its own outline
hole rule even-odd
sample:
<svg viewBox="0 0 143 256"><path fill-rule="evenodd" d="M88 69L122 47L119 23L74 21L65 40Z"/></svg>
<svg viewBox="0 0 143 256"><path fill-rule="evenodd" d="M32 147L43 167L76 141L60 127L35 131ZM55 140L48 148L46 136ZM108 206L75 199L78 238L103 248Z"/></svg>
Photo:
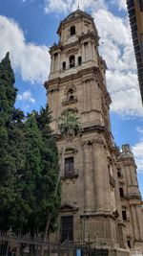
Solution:
<svg viewBox="0 0 143 256"><path fill-rule="evenodd" d="M45 106L49 48L58 42L60 21L78 4L94 18L99 52L108 66L112 134L117 146L131 145L143 197L143 105L125 0L0 0L0 60L10 51L18 89L16 107L27 113Z"/></svg>

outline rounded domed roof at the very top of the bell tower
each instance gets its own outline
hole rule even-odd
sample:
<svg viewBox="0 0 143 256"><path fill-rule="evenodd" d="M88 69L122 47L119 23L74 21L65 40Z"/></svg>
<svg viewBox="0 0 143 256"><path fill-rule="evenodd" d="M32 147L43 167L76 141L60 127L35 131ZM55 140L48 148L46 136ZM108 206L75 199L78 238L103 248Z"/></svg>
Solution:
<svg viewBox="0 0 143 256"><path fill-rule="evenodd" d="M65 19L63 19L60 22L59 27L57 29L57 34L59 33L59 31L61 29L61 26L64 23L67 23L68 21L72 21L73 19L76 19L76 18L79 18L79 17L86 17L86 18L90 19L91 21L93 21L93 18L89 13L83 12L80 9L77 9L75 12L72 12L71 14L69 14Z"/></svg>

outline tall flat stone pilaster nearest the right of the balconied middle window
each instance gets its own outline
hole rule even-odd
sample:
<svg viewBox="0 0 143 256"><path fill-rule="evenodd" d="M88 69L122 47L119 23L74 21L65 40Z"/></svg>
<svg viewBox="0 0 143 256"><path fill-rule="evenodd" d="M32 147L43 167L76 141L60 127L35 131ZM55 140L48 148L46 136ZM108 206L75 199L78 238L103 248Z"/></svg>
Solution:
<svg viewBox="0 0 143 256"><path fill-rule="evenodd" d="M84 211L92 210L92 174L90 161L90 145L83 143L83 169L84 169Z"/></svg>

